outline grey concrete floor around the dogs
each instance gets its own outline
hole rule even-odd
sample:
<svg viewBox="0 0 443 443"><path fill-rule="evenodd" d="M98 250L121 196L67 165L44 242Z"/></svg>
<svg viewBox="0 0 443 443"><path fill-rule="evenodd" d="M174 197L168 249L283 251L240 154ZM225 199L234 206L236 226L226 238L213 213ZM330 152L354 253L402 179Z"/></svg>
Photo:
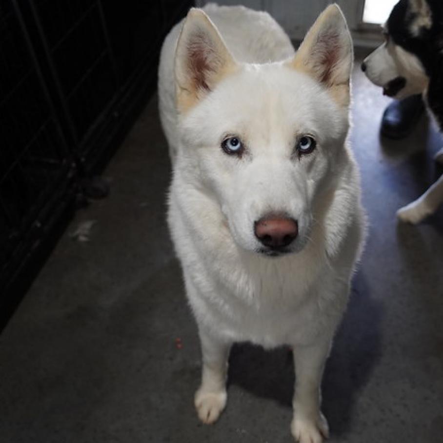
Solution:
<svg viewBox="0 0 443 443"><path fill-rule="evenodd" d="M380 139L389 100L357 68L353 96L370 227L324 376L330 441L441 442L443 211L419 226L395 211L442 172L442 140L425 117L405 141ZM199 343L165 224L156 98L104 176L110 196L78 212L0 336L0 442L291 442L285 350L234 347L226 411L197 420ZM73 240L90 220L90 241Z"/></svg>

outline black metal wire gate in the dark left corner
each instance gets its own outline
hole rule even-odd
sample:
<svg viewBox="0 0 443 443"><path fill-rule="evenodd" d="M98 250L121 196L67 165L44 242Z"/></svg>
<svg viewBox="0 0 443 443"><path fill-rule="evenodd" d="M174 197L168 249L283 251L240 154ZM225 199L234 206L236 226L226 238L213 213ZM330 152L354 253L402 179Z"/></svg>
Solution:
<svg viewBox="0 0 443 443"><path fill-rule="evenodd" d="M3 320L79 180L100 169L154 90L161 41L190 6L0 0Z"/></svg>

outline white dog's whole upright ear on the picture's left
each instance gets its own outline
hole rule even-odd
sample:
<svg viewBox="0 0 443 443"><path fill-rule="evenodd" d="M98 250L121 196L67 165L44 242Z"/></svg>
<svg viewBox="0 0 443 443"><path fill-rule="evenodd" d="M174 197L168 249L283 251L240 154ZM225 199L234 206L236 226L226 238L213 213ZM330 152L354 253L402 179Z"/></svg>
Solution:
<svg viewBox="0 0 443 443"><path fill-rule="evenodd" d="M209 17L201 9L192 8L184 21L175 55L179 112L195 106L236 66Z"/></svg>

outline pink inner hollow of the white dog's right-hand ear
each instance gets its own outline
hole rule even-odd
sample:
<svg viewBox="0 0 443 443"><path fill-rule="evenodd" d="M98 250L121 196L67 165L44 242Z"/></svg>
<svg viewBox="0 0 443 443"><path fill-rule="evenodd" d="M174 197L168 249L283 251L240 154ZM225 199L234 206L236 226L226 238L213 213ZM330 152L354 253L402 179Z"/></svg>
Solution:
<svg viewBox="0 0 443 443"><path fill-rule="evenodd" d="M335 31L322 33L314 46L316 70L321 73L320 81L330 83L334 68L340 58L340 35Z"/></svg>

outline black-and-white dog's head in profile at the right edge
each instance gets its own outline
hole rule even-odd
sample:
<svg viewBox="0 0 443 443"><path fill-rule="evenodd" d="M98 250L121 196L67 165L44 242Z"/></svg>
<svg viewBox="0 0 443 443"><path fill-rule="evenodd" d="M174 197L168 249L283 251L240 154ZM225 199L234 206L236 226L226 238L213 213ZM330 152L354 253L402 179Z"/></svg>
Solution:
<svg viewBox="0 0 443 443"><path fill-rule="evenodd" d="M426 0L400 0L383 27L385 42L362 63L370 81L383 94L402 99L425 91L426 57L433 14Z"/></svg>

